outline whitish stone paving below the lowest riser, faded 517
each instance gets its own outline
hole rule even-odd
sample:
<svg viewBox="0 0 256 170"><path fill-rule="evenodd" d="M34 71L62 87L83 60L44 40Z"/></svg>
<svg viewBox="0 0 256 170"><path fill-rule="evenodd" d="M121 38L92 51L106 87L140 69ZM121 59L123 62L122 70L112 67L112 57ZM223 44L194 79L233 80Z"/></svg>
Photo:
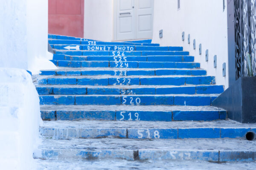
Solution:
<svg viewBox="0 0 256 170"><path fill-rule="evenodd" d="M35 159L37 170L255 170L256 161L215 163L209 161L127 161L107 160L43 160ZM47 169L46 169L47 168Z"/></svg>

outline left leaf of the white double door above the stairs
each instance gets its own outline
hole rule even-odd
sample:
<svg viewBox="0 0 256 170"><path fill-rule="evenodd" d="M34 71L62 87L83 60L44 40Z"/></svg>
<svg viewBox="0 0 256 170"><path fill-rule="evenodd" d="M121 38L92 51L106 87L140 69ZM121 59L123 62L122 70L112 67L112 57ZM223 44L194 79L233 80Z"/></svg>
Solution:
<svg viewBox="0 0 256 170"><path fill-rule="evenodd" d="M134 39L134 0L117 0L116 9L116 39Z"/></svg>

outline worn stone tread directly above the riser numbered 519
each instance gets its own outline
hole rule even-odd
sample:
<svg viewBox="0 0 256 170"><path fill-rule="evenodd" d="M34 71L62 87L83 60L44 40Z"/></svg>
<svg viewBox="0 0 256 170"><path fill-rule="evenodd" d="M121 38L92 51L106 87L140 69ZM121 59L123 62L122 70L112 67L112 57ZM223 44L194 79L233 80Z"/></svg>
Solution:
<svg viewBox="0 0 256 170"><path fill-rule="evenodd" d="M41 105L41 111L224 111L213 106Z"/></svg>

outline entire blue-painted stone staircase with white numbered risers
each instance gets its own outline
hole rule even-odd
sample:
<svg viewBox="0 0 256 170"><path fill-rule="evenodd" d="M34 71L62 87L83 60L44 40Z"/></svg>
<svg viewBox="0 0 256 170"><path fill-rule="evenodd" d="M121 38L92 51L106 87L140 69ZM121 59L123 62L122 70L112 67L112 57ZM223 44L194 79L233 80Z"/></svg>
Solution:
<svg viewBox="0 0 256 170"><path fill-rule="evenodd" d="M36 159L256 159L245 139L256 125L211 106L224 88L182 47L57 35L49 44L58 69L36 84L45 120Z"/></svg>

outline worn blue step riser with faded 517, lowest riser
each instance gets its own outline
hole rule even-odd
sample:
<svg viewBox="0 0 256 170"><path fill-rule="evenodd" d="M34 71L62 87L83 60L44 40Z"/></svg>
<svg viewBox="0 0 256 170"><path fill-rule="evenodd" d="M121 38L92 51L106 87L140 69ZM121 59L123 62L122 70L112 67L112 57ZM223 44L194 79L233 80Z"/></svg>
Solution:
<svg viewBox="0 0 256 170"><path fill-rule="evenodd" d="M212 162L226 161L253 161L256 160L255 151L230 151L230 150L160 150L160 149L140 149L140 150L82 150L82 149L41 149L39 155L34 154L35 159L50 159L67 161L67 158L76 160L103 160L103 159L124 159L134 161L134 153L139 153L136 157L140 160L165 161L165 160L198 160ZM136 160L137 160L136 159Z"/></svg>

